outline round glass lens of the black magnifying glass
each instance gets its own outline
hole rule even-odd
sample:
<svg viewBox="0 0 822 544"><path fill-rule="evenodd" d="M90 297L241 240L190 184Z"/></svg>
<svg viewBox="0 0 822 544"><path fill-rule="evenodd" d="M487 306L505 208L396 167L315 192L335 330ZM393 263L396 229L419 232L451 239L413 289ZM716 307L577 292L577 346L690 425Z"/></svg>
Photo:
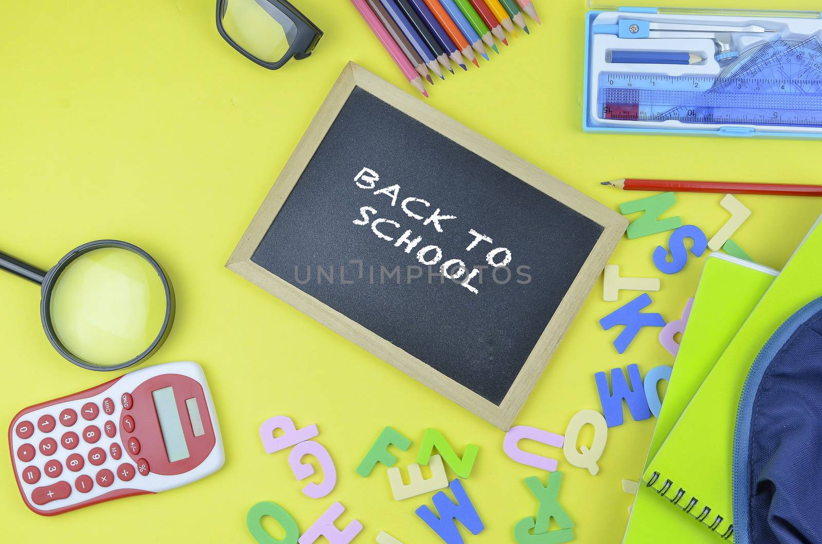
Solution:
<svg viewBox="0 0 822 544"><path fill-rule="evenodd" d="M62 270L51 297L51 321L63 347L99 366L139 356L164 327L163 280L134 251L101 247Z"/></svg>

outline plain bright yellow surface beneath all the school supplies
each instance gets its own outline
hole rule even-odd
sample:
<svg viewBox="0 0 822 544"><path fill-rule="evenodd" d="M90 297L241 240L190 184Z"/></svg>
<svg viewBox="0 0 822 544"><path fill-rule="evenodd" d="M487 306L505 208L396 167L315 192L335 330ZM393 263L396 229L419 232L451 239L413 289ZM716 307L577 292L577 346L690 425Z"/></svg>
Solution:
<svg viewBox="0 0 822 544"><path fill-rule="evenodd" d="M295 0L326 32L312 58L267 71L242 58L215 30L205 0L5 2L0 45L0 250L48 267L67 251L104 237L145 248L169 271L177 322L150 364L182 359L205 368L219 413L225 467L190 486L42 518L21 501L9 460L0 457L0 527L7 542L252 542L249 507L273 500L305 530L335 500L365 526L357 542L386 530L406 543L439 542L413 514L430 495L396 503L385 468L353 471L386 425L413 440L427 426L461 454L480 446L465 487L486 524L467 542L511 542L514 524L536 513L522 480L545 474L502 452L503 433L362 349L262 292L223 265L345 62L353 60L413 91L349 2ZM630 2L629 2L630 3ZM682 2L674 2L682 3ZM586 135L581 131L584 2L535 2L529 21L491 62L430 89L432 106L614 208L645 196L598 182L672 177L820 182L818 141L746 141L667 136ZM813 9L815 2L723 0L727 7ZM818 6L816 6L818 9ZM367 122L367 120L363 120ZM720 195L679 195L673 210L713 235L727 219ZM822 201L741 197L753 211L734 236L756 260L781 267L820 214ZM667 233L628 241L611 262L624 275L660 276L653 248ZM662 279L651 310L677 319L701 261ZM600 409L597 371L638 363L644 375L671 364L658 330L644 330L627 353L597 324L624 304L602 301L601 281L585 303L516 423L564 433L583 408ZM71 394L111 375L62 359L39 323L39 293L0 274L0 421L33 403ZM276 414L316 423L317 440L339 480L308 499L286 452L266 455L257 429ZM626 412L627 416L627 412ZM653 419L612 428L596 477L560 459L561 504L575 542L621 542L631 497L623 478L639 476Z"/></svg>

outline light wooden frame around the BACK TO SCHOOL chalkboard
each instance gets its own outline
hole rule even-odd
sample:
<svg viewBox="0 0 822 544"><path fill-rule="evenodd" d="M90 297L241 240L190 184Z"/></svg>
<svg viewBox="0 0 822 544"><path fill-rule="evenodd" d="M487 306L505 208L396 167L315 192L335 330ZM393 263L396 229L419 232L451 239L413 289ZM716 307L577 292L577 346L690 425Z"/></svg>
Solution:
<svg viewBox="0 0 822 544"><path fill-rule="evenodd" d="M502 403L496 404L484 399L479 394L469 390L464 385L450 379L433 367L430 367L413 357L404 350L397 348L386 339L382 339L363 325L349 319L339 311L326 306L316 298L302 292L289 284L285 279L270 273L252 261L252 255L260 245L262 238L268 232L279 210L283 207L286 198L297 184L303 170L307 168L309 160L321 145L323 138L337 118L340 109L349 99L355 87L375 95L411 118L422 122L432 130L450 138L457 144L464 146L473 153L496 164L499 168L528 183L539 191L551 196L563 205L576 210L578 213L591 219L603 227L603 233L593 247L593 251L585 260L570 289L563 297L559 307L538 342L529 354L524 366L520 370L510 390ZM242 239L234 249L226 263L229 270L233 270L253 284L264 288L269 293L280 298L307 316L326 325L330 330L341 334L346 339L380 357L383 361L403 371L415 380L422 382L437 393L454 401L460 406L482 417L492 425L506 431L520 412L533 386L547 366L562 336L568 330L571 320L574 319L585 298L593 288L593 284L602 273L607 259L617 247L622 234L625 233L628 221L615 211L585 196L573 187L560 182L539 168L520 159L515 154L496 145L487 138L480 136L469 128L464 127L444 113L424 104L394 85L381 80L363 67L353 62L344 68L330 94L316 113L302 140L297 145L282 173L279 174L274 187L266 196L252 223L242 235Z"/></svg>

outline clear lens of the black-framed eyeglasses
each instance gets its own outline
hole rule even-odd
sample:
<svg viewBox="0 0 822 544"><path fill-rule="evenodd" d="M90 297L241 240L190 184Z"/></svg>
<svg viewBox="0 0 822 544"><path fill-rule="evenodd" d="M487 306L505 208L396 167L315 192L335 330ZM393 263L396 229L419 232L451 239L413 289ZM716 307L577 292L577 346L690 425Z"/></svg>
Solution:
<svg viewBox="0 0 822 544"><path fill-rule="evenodd" d="M278 62L297 39L297 26L267 0L225 0L223 28L254 57Z"/></svg>

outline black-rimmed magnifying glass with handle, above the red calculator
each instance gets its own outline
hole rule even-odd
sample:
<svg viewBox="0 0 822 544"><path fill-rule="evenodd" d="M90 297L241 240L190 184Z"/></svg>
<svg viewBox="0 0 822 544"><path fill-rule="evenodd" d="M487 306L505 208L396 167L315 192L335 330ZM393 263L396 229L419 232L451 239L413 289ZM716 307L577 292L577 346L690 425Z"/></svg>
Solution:
<svg viewBox="0 0 822 544"><path fill-rule="evenodd" d="M0 269L41 285L48 341L78 367L116 371L150 357L174 320L165 271L139 247L89 242L48 272L0 252Z"/></svg>

